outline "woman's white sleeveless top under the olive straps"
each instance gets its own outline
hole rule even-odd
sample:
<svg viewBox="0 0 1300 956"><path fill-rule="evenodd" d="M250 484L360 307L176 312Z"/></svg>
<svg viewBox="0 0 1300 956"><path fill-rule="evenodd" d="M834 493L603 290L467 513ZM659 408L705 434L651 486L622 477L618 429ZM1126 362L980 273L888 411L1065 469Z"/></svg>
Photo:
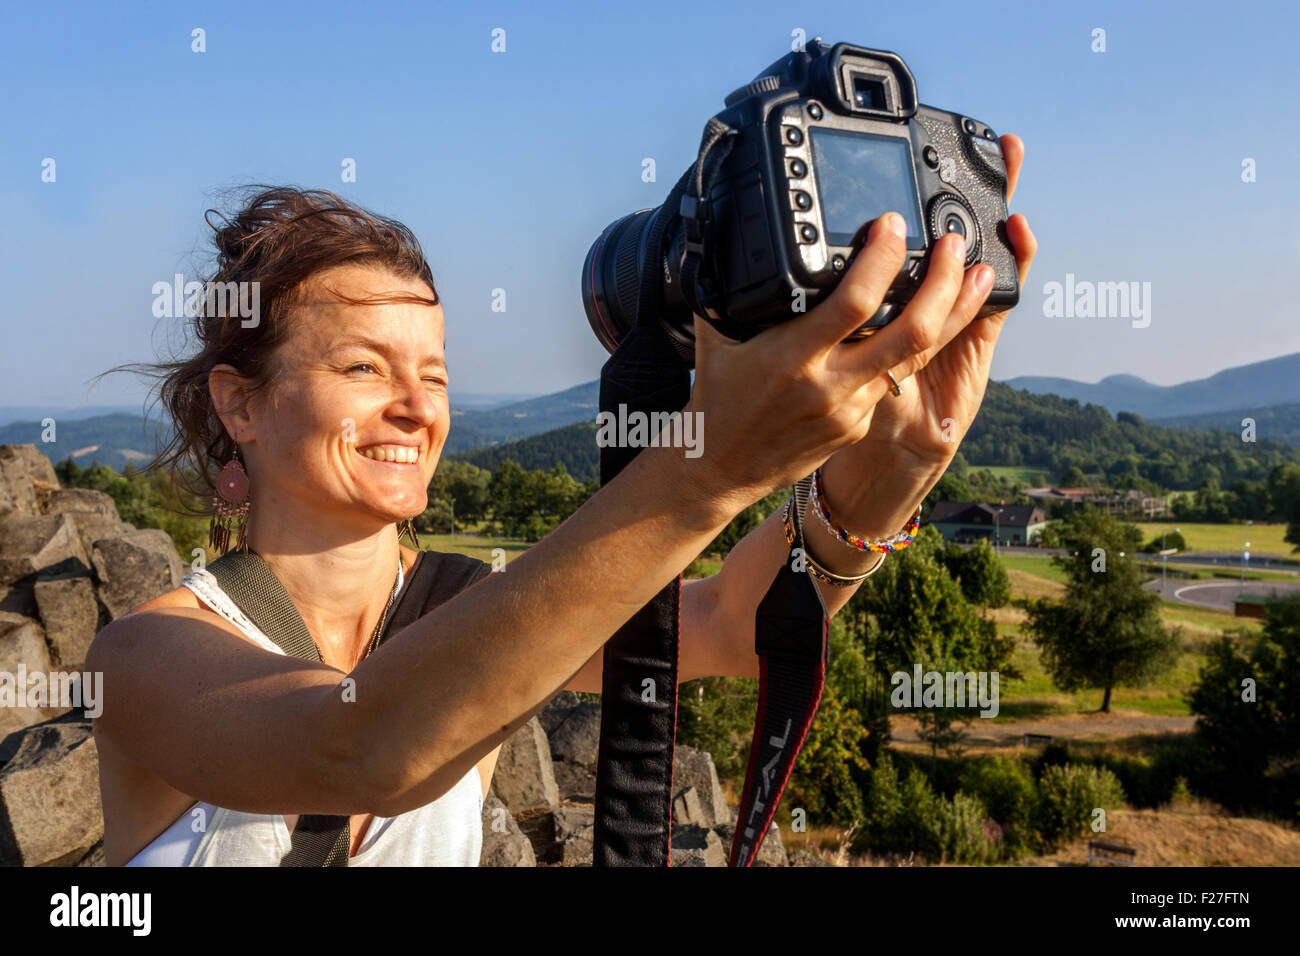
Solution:
<svg viewBox="0 0 1300 956"><path fill-rule="evenodd" d="M399 571L400 574L400 571ZM254 624L205 568L181 581L211 610L273 654L285 652ZM400 591L402 581L398 583ZM196 803L127 866L278 866L291 847L280 814L240 813ZM374 817L348 866L477 866L482 851L478 767L450 791L396 817Z"/></svg>

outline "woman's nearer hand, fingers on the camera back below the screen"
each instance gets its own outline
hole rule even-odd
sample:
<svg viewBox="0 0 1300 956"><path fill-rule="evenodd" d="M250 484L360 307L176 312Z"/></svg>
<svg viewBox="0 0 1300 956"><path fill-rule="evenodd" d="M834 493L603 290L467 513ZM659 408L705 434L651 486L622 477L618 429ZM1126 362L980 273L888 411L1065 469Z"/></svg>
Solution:
<svg viewBox="0 0 1300 956"><path fill-rule="evenodd" d="M876 312L902 268L905 234L898 213L881 216L826 300L749 341L729 339L696 317L696 382L684 411L701 415L702 455L675 470L679 493L738 512L836 451L861 447L876 403L897 401L888 395L885 369L923 365L984 298L976 300L971 282L963 287L965 242L944 237L907 308L868 338L844 343Z"/></svg>

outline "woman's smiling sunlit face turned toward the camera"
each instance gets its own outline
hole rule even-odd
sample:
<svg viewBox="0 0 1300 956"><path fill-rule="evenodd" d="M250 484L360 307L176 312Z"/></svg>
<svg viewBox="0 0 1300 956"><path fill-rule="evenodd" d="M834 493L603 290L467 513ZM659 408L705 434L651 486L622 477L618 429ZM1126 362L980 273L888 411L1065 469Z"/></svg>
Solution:
<svg viewBox="0 0 1300 956"><path fill-rule="evenodd" d="M341 265L315 276L276 350L266 389L254 393L247 425L234 423L252 494L294 512L369 533L411 518L451 423L441 306L352 304L350 298L410 293L417 278ZM231 423L228 421L228 428Z"/></svg>

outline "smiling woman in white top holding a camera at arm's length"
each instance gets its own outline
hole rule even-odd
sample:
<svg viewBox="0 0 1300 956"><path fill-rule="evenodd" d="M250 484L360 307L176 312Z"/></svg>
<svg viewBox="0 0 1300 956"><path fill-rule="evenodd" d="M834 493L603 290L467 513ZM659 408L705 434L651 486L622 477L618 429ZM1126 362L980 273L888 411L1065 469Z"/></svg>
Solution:
<svg viewBox="0 0 1300 956"><path fill-rule="evenodd" d="M1023 147L1002 148L1014 190ZM417 557L398 523L424 510L450 425L433 277L404 226L330 194L269 190L214 229L214 281L259 282L261 311L252 328L200 316L196 352L164 367L166 460L209 493L242 462L247 546L322 659L280 653L202 570L105 627L86 666L108 701L109 865L276 865L298 814L348 816L350 865L476 865L500 744L562 688L599 692L602 644L738 511L824 463L842 527L884 538L909 523L979 408L1005 317L972 320L992 271L963 272L949 235L907 310L841 343L904 261L902 219L881 216L807 315L748 342L697 320L699 458L644 449L504 574L368 654ZM1036 243L1022 216L1008 233L1023 282ZM829 575L881 559L806 529ZM785 557L774 515L684 584L680 680L758 675L754 607ZM854 591L818 587L832 614Z"/></svg>

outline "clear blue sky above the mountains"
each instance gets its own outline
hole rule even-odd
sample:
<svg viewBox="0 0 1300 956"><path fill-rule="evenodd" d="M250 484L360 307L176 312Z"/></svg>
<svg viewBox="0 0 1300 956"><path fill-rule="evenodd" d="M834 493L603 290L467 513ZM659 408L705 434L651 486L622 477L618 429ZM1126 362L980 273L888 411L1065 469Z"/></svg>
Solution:
<svg viewBox="0 0 1300 956"><path fill-rule="evenodd" d="M1173 384L1300 350L1300 14L1283 4L96 3L0 22L0 405L142 397L88 382L174 341L151 287L204 264L203 211L246 182L332 189L416 232L452 394L589 381L589 245L663 200L797 29L893 49L923 103L1026 140L1013 209L1041 250L994 378ZM1150 282L1150 324L1046 317L1044 285L1067 273Z"/></svg>

